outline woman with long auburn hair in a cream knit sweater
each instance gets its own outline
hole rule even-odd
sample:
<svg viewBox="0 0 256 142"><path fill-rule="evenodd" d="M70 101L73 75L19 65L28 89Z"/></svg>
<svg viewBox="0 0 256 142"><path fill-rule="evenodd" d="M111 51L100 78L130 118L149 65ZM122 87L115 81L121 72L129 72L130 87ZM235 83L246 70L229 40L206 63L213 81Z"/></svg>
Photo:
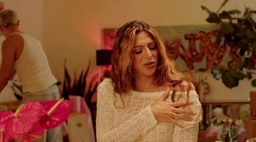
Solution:
<svg viewBox="0 0 256 142"><path fill-rule="evenodd" d="M157 32L132 21L117 32L111 79L97 92L98 141L197 141L201 104Z"/></svg>

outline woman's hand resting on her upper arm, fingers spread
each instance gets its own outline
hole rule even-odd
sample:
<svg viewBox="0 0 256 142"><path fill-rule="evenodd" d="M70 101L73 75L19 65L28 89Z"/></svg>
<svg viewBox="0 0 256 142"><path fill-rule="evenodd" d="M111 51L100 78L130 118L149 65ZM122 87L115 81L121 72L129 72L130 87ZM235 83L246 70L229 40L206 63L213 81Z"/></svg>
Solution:
<svg viewBox="0 0 256 142"><path fill-rule="evenodd" d="M156 101L152 104L151 110L158 122L168 122L175 124L179 127L185 128L186 126L177 122L177 119L184 121L192 121L193 118L186 117L185 115L195 115L193 111L189 111L183 108L178 108L179 106L186 106L193 103L193 101L182 101L182 102L165 102L164 100L169 96L170 89L166 90L163 95L159 96Z"/></svg>

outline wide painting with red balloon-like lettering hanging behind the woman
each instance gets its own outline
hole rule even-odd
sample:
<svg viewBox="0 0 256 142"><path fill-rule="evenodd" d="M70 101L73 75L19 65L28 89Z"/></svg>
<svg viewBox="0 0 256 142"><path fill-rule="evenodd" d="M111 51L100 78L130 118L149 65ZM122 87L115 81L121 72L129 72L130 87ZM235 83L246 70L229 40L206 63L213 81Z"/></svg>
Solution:
<svg viewBox="0 0 256 142"><path fill-rule="evenodd" d="M103 31L103 48L111 49L117 30L114 28ZM161 26L156 27L156 31L163 38L168 57L173 60L184 60L184 64L189 70L202 68L209 70L212 67L221 66L230 68L238 60L241 60L237 54L239 48L234 48L234 44L227 43L225 46L222 43L218 44L216 41L218 27L209 25ZM256 69L256 59L250 58L248 61L250 68ZM202 62L205 64L204 67L195 66L195 63Z"/></svg>

